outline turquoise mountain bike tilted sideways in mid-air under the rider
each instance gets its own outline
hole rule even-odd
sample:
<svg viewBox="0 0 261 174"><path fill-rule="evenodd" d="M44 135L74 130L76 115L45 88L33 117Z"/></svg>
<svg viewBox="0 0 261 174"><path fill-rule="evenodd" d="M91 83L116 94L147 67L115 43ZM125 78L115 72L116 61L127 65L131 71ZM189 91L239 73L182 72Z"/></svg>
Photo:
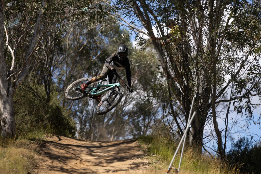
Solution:
<svg viewBox="0 0 261 174"><path fill-rule="evenodd" d="M130 91L130 88L124 83L118 73L114 73L118 77L118 83L101 85L103 81L107 81L106 79L104 79L99 82L98 86L87 86L85 92L82 92L81 85L87 82L87 78L82 78L74 81L67 87L67 89L65 90L65 97L68 100L79 100L84 97L94 98L104 94L107 91L110 91L109 95L100 101L95 110L98 115L103 115L111 111L117 104L120 103L122 99L120 86L127 87Z"/></svg>

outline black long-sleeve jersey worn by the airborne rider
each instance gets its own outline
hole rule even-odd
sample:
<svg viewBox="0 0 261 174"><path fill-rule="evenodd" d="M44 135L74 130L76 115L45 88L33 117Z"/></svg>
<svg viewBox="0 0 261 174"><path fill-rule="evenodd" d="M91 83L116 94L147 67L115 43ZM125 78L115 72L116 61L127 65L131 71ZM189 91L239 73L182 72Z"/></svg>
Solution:
<svg viewBox="0 0 261 174"><path fill-rule="evenodd" d="M121 62L116 52L106 59L104 65L109 69L115 68L117 71L125 68L128 85L131 87L131 66L128 57Z"/></svg>

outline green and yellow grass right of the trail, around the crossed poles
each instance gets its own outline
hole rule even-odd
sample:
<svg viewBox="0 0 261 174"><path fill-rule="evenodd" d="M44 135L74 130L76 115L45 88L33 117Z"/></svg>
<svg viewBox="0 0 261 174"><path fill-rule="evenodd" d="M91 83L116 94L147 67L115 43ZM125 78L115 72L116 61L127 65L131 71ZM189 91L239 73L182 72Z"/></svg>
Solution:
<svg viewBox="0 0 261 174"><path fill-rule="evenodd" d="M145 150L153 158L152 160L156 161L154 167L158 170L167 170L175 153L177 143L171 142L166 134L159 132L141 136L138 138L138 142L146 145ZM173 163L175 168L179 167L180 151ZM237 167L229 167L220 159L211 158L209 155L201 154L189 147L185 147L180 169L180 173L239 173Z"/></svg>

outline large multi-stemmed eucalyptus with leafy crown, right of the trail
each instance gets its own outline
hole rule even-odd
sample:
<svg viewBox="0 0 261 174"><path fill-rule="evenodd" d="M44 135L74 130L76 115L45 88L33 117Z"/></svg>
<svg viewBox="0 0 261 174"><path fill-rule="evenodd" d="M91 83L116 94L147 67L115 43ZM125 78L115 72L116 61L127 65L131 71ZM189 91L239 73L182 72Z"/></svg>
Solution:
<svg viewBox="0 0 261 174"><path fill-rule="evenodd" d="M169 94L177 99L186 122L195 96L190 142L201 149L205 124L212 122L218 151L224 155L216 106L232 101L235 110L245 109L251 118L252 97L260 96L260 1L118 0L103 5L114 22L136 33L140 45L154 46ZM177 45L166 37L168 19L179 28Z"/></svg>

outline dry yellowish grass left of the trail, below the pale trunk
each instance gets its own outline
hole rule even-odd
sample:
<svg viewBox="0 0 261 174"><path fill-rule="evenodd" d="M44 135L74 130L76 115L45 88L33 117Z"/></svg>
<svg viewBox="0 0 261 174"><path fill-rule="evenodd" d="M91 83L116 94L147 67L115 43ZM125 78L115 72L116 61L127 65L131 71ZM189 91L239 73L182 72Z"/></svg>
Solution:
<svg viewBox="0 0 261 174"><path fill-rule="evenodd" d="M43 140L42 130L14 139L0 139L0 173L31 173L37 165L37 143Z"/></svg>

